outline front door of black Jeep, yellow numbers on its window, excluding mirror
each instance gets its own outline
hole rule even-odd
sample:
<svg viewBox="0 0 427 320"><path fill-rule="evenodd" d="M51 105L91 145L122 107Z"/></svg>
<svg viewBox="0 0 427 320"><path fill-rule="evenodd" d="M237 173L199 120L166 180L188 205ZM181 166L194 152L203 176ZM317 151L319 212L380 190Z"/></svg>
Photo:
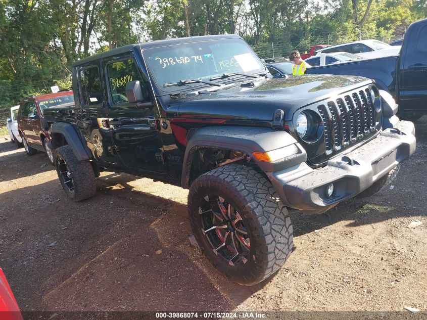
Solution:
<svg viewBox="0 0 427 320"><path fill-rule="evenodd" d="M115 150L130 169L166 172L160 121L151 87L137 67L132 53L104 60L104 77L108 88L108 117ZM126 83L139 80L144 105L129 103Z"/></svg>

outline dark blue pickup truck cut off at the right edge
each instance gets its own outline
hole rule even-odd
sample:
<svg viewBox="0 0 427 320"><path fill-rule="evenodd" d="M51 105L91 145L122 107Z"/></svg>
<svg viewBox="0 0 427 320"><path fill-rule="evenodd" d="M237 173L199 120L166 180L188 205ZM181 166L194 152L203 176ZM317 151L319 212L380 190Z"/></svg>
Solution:
<svg viewBox="0 0 427 320"><path fill-rule="evenodd" d="M427 19L409 26L399 56L310 68L306 73L374 79L399 104L401 118L416 120L427 114Z"/></svg>

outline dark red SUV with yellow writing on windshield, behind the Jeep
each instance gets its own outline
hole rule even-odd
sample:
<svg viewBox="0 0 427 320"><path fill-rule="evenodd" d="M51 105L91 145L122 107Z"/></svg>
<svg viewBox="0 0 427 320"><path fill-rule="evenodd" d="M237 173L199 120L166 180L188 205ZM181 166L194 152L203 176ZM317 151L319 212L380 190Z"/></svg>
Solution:
<svg viewBox="0 0 427 320"><path fill-rule="evenodd" d="M73 92L59 92L23 99L19 106L17 122L25 152L32 156L37 151L44 151L48 154L49 161L53 164L54 155L50 145L47 144L51 140L51 136L43 116L44 110L52 107L73 109Z"/></svg>

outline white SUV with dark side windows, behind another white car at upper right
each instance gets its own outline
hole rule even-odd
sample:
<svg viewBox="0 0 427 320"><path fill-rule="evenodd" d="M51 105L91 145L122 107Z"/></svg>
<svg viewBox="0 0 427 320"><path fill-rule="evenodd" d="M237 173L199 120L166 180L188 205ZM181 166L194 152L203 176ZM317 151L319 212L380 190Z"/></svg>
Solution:
<svg viewBox="0 0 427 320"><path fill-rule="evenodd" d="M321 53L348 52L364 59L372 59L396 56L399 54L399 51L399 46L392 47L382 41L369 39L331 45L330 47L318 50L316 55Z"/></svg>

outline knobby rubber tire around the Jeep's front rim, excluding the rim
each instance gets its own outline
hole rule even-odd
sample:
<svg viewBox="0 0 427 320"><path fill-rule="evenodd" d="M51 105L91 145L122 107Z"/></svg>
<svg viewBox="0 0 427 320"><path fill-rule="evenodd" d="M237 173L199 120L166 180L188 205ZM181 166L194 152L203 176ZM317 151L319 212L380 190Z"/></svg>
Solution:
<svg viewBox="0 0 427 320"><path fill-rule="evenodd" d="M207 194L218 194L239 211L250 237L245 264L229 265L215 254L202 232L199 208ZM252 167L230 164L199 176L188 194L188 215L202 251L225 277L241 285L255 285L275 273L293 247L293 228L287 208L271 182Z"/></svg>

